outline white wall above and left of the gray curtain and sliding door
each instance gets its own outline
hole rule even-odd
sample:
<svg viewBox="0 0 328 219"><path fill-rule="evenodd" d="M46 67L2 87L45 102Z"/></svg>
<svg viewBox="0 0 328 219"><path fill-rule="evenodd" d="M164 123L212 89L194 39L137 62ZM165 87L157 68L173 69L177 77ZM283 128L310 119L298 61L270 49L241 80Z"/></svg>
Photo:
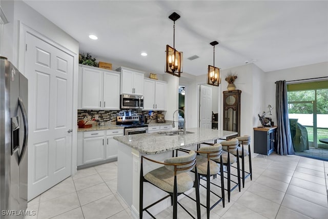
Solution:
<svg viewBox="0 0 328 219"><path fill-rule="evenodd" d="M297 79L308 79L314 77L328 77L328 62L317 63L295 68L282 69L265 73L265 105L269 104L274 107L272 112L272 120L276 124L276 81L293 81ZM304 81L300 81L301 83ZM293 83L293 82L291 82ZM296 82L294 82L296 83ZM265 111L267 111L265 109ZM263 109L264 111L264 109Z"/></svg>

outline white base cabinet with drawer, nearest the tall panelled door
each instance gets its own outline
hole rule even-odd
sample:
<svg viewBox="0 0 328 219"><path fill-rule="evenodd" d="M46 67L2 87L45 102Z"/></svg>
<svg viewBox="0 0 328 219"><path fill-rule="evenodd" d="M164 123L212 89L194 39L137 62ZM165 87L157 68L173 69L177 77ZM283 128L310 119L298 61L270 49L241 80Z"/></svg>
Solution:
<svg viewBox="0 0 328 219"><path fill-rule="evenodd" d="M85 132L83 140L83 164L103 161L104 153L104 131Z"/></svg>

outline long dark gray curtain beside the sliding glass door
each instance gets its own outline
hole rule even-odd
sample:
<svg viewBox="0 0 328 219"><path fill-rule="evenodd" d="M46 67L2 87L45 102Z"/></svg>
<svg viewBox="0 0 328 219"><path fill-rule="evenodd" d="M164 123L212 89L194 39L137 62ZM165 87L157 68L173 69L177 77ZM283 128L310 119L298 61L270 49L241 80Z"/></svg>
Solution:
<svg viewBox="0 0 328 219"><path fill-rule="evenodd" d="M277 153L295 154L288 118L288 99L286 81L276 82Z"/></svg>

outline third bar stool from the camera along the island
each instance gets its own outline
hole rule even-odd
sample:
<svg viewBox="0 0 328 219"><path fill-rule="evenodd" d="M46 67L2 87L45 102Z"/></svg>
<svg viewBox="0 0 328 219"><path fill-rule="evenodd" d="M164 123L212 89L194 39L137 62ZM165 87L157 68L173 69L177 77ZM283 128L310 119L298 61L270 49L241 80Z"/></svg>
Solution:
<svg viewBox="0 0 328 219"><path fill-rule="evenodd" d="M218 146L220 148L221 152L221 156L218 159L213 159L211 158L212 161L220 164L221 161L223 163L224 166L227 167L227 177L224 177L227 179L227 186L228 188L226 189L226 191L228 192L228 202L230 202L230 194L231 192L238 187L239 192L240 192L240 172L239 172L239 160L237 160L236 156L227 152L227 151L223 151L222 150L222 145L219 143L216 144L211 144L211 143L201 143L201 144L205 144L205 145L212 145L212 146ZM231 165L237 163L237 175L234 175L231 173ZM237 181L235 182L233 180L231 180L231 175L236 176L237 177ZM231 182L233 182L235 185L231 188Z"/></svg>

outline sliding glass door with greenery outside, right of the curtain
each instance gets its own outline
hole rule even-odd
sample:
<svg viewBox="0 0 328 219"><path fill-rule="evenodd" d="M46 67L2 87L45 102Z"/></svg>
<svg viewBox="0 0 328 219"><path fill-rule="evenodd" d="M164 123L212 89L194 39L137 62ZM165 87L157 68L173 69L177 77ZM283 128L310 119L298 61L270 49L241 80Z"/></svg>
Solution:
<svg viewBox="0 0 328 219"><path fill-rule="evenodd" d="M328 81L288 85L288 106L292 141L296 153L328 149L319 140L328 138ZM317 151L316 151L317 152ZM315 154L313 151L312 154ZM320 158L328 159L320 151ZM317 153L318 154L318 153Z"/></svg>

